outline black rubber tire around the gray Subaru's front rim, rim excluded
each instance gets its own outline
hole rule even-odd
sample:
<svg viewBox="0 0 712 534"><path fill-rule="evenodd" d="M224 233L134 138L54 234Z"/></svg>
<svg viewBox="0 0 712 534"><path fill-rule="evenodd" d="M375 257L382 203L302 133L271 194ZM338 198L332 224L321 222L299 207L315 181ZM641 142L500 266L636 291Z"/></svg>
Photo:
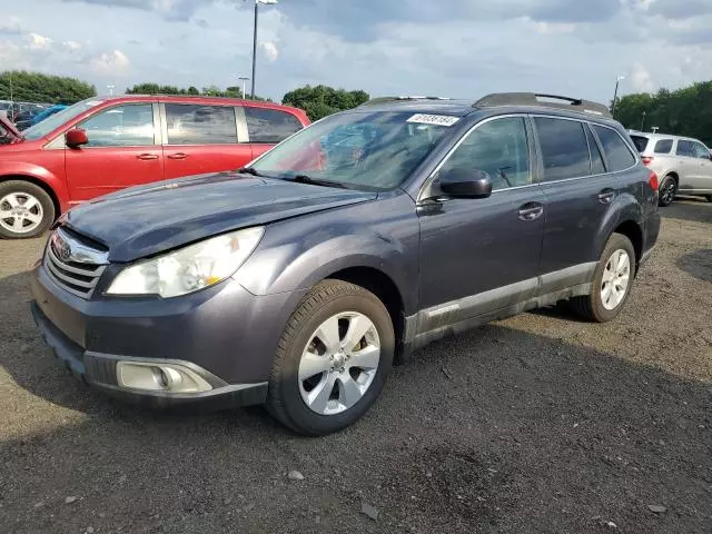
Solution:
<svg viewBox="0 0 712 534"><path fill-rule="evenodd" d="M299 363L317 328L329 317L357 312L368 317L380 342L380 359L370 386L350 408L335 415L313 412L301 398ZM267 395L267 411L280 423L304 435L338 432L364 416L380 394L393 366L395 335L388 310L370 291L342 280L316 285L291 314L279 339Z"/></svg>

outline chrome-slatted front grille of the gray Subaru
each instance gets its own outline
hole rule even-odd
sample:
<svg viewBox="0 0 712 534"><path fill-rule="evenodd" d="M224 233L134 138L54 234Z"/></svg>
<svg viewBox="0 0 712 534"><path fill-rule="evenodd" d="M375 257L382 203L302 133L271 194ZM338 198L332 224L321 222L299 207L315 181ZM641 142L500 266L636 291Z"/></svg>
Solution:
<svg viewBox="0 0 712 534"><path fill-rule="evenodd" d="M82 261L76 261L73 248L81 251ZM87 263L96 256L97 263ZM65 290L81 298L90 298L106 269L106 253L89 249L58 229L52 234L44 253L44 268L49 277ZM67 258L67 259L62 259Z"/></svg>

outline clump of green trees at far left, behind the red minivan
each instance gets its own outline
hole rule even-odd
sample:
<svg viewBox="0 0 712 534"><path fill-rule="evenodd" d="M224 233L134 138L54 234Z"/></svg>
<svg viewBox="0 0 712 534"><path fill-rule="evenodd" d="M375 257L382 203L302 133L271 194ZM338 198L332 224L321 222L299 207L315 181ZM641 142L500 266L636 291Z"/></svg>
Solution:
<svg viewBox="0 0 712 534"><path fill-rule="evenodd" d="M24 70L0 72L0 98L6 100L69 105L96 95L92 85L77 78Z"/></svg>

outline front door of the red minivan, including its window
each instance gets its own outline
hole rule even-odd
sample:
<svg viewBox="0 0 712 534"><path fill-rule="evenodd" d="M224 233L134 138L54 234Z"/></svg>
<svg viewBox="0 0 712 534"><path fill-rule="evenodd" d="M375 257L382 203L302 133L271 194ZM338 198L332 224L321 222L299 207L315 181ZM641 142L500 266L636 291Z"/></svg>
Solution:
<svg viewBox="0 0 712 534"><path fill-rule="evenodd" d="M71 204L164 178L157 110L150 102L103 109L78 125L89 144L65 149Z"/></svg>

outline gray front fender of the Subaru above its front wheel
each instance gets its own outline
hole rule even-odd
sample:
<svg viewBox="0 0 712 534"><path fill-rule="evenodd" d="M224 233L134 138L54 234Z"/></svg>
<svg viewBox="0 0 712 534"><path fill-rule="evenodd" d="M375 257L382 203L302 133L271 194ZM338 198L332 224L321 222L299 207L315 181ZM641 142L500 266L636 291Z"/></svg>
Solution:
<svg viewBox="0 0 712 534"><path fill-rule="evenodd" d="M398 288L406 314L417 307L419 222L400 199L329 210L267 227L235 275L254 295L298 291L355 267L379 270Z"/></svg>

